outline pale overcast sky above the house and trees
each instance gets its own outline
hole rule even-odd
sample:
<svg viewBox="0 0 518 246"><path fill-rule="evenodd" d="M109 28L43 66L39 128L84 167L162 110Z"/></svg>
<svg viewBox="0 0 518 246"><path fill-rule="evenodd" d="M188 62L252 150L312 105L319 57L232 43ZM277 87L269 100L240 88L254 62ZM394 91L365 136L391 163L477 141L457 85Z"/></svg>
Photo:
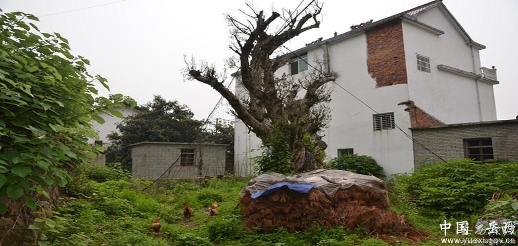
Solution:
<svg viewBox="0 0 518 246"><path fill-rule="evenodd" d="M347 32L352 24L380 20L427 2L327 0L321 27L296 37L287 47L294 50L318 37L332 37L335 31ZM254 2L266 12L272 7L294 9L299 3L300 0ZM487 47L480 52L481 64L498 69L500 84L494 86L498 119L514 119L518 114L518 69L514 67L518 65L518 1L443 3L473 40ZM103 4L107 5L92 7ZM227 48L229 34L223 15L238 15L237 9L242 7L243 0L0 0L4 11L32 13L40 17L37 25L43 32L66 37L74 54L91 61L89 71L108 79L111 92L100 91L101 94L122 93L139 104L151 100L153 94L162 95L188 105L198 119L207 117L220 95L208 85L184 81L183 55L223 67L225 58L232 55ZM77 10L81 8L85 9ZM228 110L223 105L216 116L232 119Z"/></svg>

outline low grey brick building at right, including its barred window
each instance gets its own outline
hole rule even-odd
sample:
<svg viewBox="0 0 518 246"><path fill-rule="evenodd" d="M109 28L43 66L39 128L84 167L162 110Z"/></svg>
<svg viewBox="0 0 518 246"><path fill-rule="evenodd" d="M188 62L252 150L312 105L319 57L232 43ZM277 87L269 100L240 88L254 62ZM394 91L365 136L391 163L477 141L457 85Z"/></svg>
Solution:
<svg viewBox="0 0 518 246"><path fill-rule="evenodd" d="M486 121L410 128L413 138L444 158L491 162L518 161L518 120ZM414 142L414 166L437 157Z"/></svg>

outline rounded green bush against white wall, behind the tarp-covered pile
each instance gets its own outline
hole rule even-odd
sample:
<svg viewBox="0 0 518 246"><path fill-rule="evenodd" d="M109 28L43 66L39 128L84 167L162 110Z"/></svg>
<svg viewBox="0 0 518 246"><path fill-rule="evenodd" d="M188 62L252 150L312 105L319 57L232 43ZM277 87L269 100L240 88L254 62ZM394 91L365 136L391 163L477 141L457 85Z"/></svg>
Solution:
<svg viewBox="0 0 518 246"><path fill-rule="evenodd" d="M372 157L367 155L342 155L326 163L327 168L351 171L363 175L385 177L383 168Z"/></svg>

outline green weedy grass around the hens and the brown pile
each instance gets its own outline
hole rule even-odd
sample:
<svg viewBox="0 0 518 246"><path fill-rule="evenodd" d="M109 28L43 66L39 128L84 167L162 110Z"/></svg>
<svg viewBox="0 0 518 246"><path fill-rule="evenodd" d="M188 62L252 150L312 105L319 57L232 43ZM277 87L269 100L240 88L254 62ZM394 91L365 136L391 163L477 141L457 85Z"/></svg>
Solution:
<svg viewBox="0 0 518 246"><path fill-rule="evenodd" d="M95 170L95 177L103 176ZM39 233L39 245L389 245L372 238L365 230L332 230L314 226L309 231L287 233L283 228L274 233L244 230L242 217L235 207L246 181L236 178L210 179L204 184L160 182L142 191L149 181L109 176L104 182L88 177L89 170L77 175L68 186L69 197L52 215L33 226ZM111 178L110 178L111 177ZM440 233L438 218L420 215L417 208L404 199L392 196L393 211L432 234ZM210 216L209 206L218 201L217 216ZM193 209L191 221L183 219L183 203ZM162 232L149 231L151 222L161 216ZM397 245L439 245L438 238L425 243L396 241Z"/></svg>

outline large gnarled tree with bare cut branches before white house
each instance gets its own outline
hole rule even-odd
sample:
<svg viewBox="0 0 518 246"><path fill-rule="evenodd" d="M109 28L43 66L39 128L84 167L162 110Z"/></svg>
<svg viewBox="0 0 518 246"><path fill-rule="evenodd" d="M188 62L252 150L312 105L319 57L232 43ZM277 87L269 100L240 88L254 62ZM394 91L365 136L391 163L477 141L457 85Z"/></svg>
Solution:
<svg viewBox="0 0 518 246"><path fill-rule="evenodd" d="M224 76L207 63L188 62L187 77L212 86L261 138L267 147L266 162L271 163L262 163L260 171L299 172L322 167L327 144L319 132L329 120L326 104L330 100L325 84L335 76L322 71L323 62L315 57L318 69L276 77L275 72L296 55L272 57L280 51L288 52L282 50L286 41L319 27L322 5L311 1L299 11L283 9L269 15L250 4L246 6L246 11L240 10L244 20L231 15L226 19L231 26L229 48L237 54L229 64L238 69L235 75L248 95L236 96L224 85Z"/></svg>

